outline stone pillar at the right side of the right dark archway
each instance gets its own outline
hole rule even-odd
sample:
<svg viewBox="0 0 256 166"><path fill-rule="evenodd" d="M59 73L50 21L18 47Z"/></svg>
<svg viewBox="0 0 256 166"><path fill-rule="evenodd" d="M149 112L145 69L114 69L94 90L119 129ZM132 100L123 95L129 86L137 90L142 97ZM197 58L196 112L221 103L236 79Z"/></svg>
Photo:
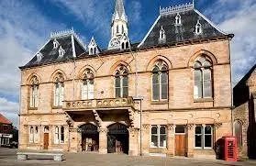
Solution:
<svg viewBox="0 0 256 166"><path fill-rule="evenodd" d="M139 128L130 127L128 128L128 155L138 156L139 155Z"/></svg>

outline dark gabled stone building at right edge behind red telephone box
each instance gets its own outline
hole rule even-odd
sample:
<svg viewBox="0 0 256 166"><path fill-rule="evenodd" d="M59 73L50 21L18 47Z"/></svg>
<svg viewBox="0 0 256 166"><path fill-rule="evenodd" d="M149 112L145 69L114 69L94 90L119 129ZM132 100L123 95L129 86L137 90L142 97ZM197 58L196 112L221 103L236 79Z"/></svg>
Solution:
<svg viewBox="0 0 256 166"><path fill-rule="evenodd" d="M256 158L256 64L234 87L233 133L239 156Z"/></svg>

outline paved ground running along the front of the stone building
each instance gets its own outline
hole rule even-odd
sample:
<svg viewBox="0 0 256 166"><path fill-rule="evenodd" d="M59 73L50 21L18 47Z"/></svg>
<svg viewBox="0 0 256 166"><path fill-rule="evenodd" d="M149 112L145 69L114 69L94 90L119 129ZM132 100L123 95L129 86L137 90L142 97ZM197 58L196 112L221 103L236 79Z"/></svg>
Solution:
<svg viewBox="0 0 256 166"><path fill-rule="evenodd" d="M63 161L49 157L17 160L17 149L0 148L0 166L256 166L256 160L226 162L189 158L130 157L124 154L64 153Z"/></svg>

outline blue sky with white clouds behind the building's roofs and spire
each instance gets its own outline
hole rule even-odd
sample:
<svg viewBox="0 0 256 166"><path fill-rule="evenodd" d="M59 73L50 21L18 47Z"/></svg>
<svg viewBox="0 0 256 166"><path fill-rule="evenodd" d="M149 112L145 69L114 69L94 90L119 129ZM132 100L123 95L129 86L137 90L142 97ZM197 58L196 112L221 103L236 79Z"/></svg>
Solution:
<svg viewBox="0 0 256 166"><path fill-rule="evenodd" d="M159 6L192 0L125 0L129 38L139 42L155 19ZM85 44L92 36L101 48L110 39L114 0L2 0L0 1L0 113L17 125L20 72L50 38L68 28ZM256 62L256 0L195 0L195 7L225 32L231 42L233 84Z"/></svg>

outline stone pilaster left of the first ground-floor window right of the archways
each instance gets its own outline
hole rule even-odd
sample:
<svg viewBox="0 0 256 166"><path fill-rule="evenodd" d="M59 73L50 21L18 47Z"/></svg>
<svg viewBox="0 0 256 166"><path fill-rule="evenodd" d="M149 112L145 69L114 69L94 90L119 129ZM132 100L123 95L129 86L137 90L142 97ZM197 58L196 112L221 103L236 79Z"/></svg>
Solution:
<svg viewBox="0 0 256 166"><path fill-rule="evenodd" d="M150 155L150 124L142 125L142 155Z"/></svg>

